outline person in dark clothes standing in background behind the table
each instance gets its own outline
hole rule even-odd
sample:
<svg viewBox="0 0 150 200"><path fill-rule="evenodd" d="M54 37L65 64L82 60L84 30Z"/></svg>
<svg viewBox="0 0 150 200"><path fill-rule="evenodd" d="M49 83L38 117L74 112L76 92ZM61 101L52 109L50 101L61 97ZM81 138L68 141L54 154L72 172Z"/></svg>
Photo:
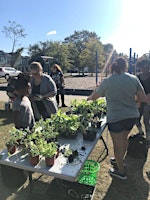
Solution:
<svg viewBox="0 0 150 200"><path fill-rule="evenodd" d="M50 76L55 81L57 86L57 95L56 95L56 101L57 105L59 106L59 96L61 97L61 105L62 107L67 107L65 105L65 98L64 98L64 88L65 88L65 81L64 81L64 75L59 65L54 64L51 67L51 74Z"/></svg>

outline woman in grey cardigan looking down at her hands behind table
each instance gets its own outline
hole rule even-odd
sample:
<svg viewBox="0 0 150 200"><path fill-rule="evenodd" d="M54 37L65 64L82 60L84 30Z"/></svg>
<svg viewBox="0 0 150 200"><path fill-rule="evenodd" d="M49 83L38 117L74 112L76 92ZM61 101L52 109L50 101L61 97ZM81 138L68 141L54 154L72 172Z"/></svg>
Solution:
<svg viewBox="0 0 150 200"><path fill-rule="evenodd" d="M30 100L35 119L49 118L51 114L57 112L56 84L49 75L43 73L39 62L32 62L30 70L32 75Z"/></svg>

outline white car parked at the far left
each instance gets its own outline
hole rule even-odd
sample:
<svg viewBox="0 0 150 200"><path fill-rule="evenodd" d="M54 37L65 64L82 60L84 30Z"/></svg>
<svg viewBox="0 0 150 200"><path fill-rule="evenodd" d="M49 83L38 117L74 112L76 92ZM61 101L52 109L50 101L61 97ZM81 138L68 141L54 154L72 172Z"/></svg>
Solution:
<svg viewBox="0 0 150 200"><path fill-rule="evenodd" d="M16 77L18 76L20 73L22 73L19 70L16 70L13 67L0 67L0 77L5 77L7 80L9 79L9 77Z"/></svg>

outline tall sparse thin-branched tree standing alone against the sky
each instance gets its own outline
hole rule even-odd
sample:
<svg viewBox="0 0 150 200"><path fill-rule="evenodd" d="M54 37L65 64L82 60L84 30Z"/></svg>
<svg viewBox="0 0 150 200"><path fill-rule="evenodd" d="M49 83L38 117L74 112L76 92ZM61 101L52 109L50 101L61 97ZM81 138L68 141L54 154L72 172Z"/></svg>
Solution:
<svg viewBox="0 0 150 200"><path fill-rule="evenodd" d="M4 26L2 33L6 37L12 40L12 50L11 53L14 53L15 47L18 44L19 38L26 37L25 30L20 24L16 24L14 21L8 21L9 26Z"/></svg>

